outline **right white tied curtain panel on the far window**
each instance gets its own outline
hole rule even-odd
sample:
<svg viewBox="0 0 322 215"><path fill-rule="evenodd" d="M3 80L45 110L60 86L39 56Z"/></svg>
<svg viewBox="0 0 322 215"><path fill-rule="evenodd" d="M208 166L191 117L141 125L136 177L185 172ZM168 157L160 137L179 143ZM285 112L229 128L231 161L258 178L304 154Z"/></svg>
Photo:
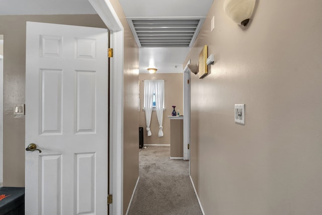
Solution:
<svg viewBox="0 0 322 215"><path fill-rule="evenodd" d="M163 136L162 131L162 121L163 121L163 103L164 103L164 93L165 93L165 81L156 80L154 81L154 93L155 93L155 106L156 106L156 116L159 122L159 133L158 136Z"/></svg>

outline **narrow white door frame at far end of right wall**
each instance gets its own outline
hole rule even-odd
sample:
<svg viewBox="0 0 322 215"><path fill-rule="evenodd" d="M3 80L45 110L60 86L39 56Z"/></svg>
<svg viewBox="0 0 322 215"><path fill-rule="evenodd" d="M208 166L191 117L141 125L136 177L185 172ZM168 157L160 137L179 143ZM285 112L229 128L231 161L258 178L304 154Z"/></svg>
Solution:
<svg viewBox="0 0 322 215"><path fill-rule="evenodd" d="M190 160L190 60L183 69L183 159ZM189 81L189 84L187 84ZM189 168L190 169L190 168Z"/></svg>

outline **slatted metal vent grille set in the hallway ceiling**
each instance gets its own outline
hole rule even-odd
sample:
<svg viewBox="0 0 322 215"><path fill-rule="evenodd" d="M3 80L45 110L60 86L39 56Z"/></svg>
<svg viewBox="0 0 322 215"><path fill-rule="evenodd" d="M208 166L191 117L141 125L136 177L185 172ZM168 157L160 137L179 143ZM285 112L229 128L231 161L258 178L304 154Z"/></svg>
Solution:
<svg viewBox="0 0 322 215"><path fill-rule="evenodd" d="M204 18L135 19L128 23L139 47L191 47Z"/></svg>

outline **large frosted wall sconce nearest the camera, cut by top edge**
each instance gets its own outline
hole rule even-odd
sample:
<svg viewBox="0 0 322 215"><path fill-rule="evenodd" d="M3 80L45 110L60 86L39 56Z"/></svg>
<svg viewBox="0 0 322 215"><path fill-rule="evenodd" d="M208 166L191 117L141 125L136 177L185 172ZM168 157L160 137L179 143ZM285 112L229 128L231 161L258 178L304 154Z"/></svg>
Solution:
<svg viewBox="0 0 322 215"><path fill-rule="evenodd" d="M239 25L246 26L252 16L256 0L225 0L223 10Z"/></svg>

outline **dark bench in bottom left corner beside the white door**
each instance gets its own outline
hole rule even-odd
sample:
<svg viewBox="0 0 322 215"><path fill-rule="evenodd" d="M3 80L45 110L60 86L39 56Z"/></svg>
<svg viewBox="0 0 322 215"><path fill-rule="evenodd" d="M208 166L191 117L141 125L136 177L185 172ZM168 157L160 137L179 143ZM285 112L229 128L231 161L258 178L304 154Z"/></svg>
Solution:
<svg viewBox="0 0 322 215"><path fill-rule="evenodd" d="M0 215L25 214L25 188L0 187Z"/></svg>

